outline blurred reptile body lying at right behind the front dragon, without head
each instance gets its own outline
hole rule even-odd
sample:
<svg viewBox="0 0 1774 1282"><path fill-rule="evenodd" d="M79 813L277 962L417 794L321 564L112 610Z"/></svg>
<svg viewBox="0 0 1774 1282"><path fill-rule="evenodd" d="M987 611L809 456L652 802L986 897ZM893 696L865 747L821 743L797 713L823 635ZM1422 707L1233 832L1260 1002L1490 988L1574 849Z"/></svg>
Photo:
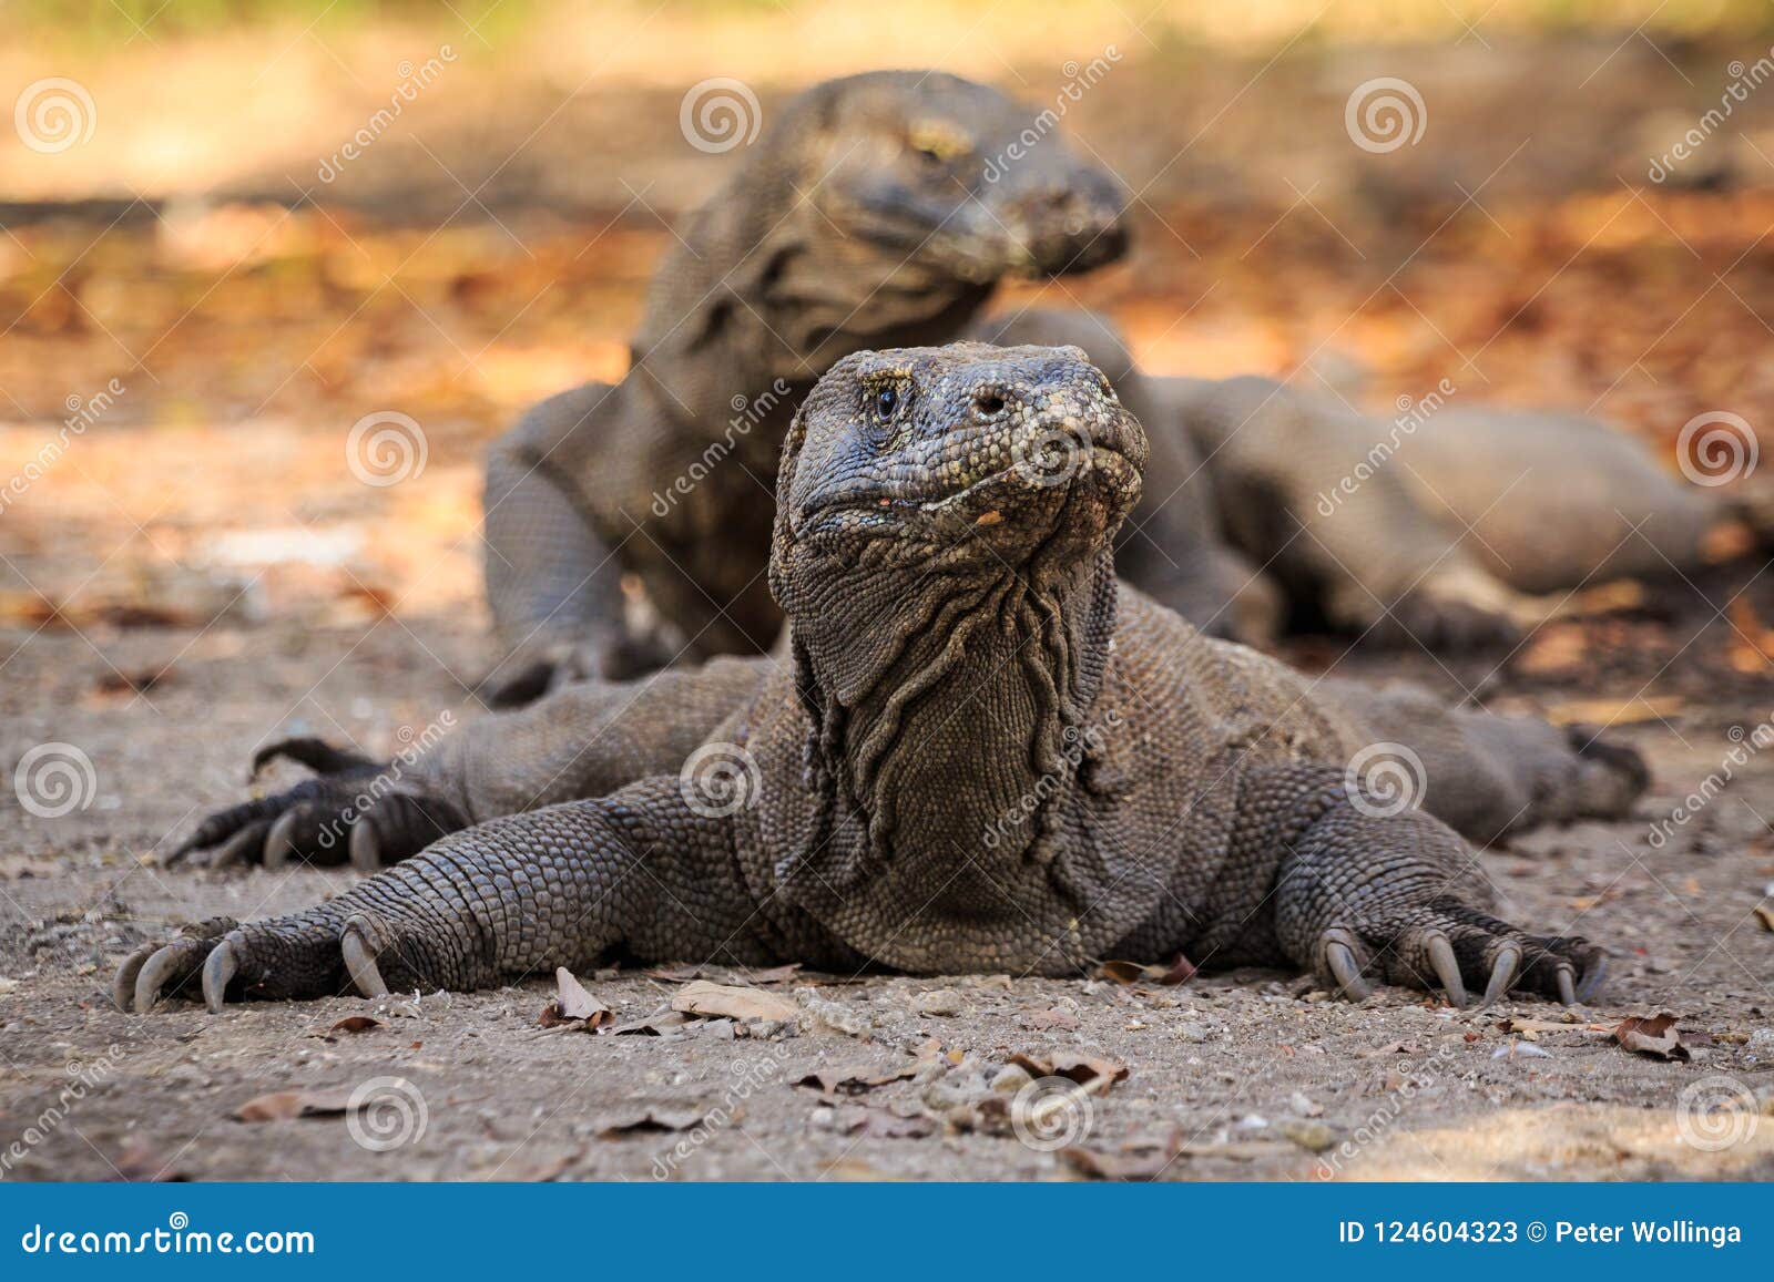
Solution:
<svg viewBox="0 0 1774 1282"><path fill-rule="evenodd" d="M1735 495L1721 502L1581 415L1448 404L1435 390L1387 424L1267 378L1148 376L1093 312L1029 309L969 335L1084 348L1146 434L1197 461L1212 493L1180 502L1217 516L1219 537L1274 582L1238 587L1240 640L1268 638L1291 606L1378 642L1501 642L1574 589L1696 573L1721 527L1758 523Z"/></svg>

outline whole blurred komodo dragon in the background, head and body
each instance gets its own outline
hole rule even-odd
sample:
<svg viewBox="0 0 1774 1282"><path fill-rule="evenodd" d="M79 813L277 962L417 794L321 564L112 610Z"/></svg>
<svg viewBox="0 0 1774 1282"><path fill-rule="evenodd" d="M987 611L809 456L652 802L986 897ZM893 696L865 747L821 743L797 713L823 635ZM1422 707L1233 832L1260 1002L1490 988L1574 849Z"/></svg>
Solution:
<svg viewBox="0 0 1774 1282"><path fill-rule="evenodd" d="M1119 184L1057 135L1029 147L1031 119L914 71L832 80L781 110L669 246L628 376L541 403L491 447L486 589L504 658L490 704L768 649L782 433L812 379L864 348L1089 351L1153 447L1118 566L1217 635L1268 640L1291 605L1462 647L1545 617L1527 594L1696 566L1721 507L1597 424L1444 408L1401 465L1375 466L1385 426L1334 399L1141 378L1087 312L977 319L1002 277L1086 271L1126 241ZM1064 466L1063 442L1041 449ZM651 606L644 628L624 617L624 576Z"/></svg>

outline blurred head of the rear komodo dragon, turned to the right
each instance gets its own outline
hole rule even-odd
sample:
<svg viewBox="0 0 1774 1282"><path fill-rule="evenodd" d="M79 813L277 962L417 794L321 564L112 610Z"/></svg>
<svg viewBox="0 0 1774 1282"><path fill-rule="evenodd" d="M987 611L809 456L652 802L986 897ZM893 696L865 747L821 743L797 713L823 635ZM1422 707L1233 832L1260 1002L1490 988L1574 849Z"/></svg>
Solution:
<svg viewBox="0 0 1774 1282"><path fill-rule="evenodd" d="M637 358L678 403L718 408L759 374L811 381L862 348L944 342L1004 277L1118 259L1121 184L1056 124L940 71L804 90L667 250ZM706 388L676 369L722 346Z"/></svg>

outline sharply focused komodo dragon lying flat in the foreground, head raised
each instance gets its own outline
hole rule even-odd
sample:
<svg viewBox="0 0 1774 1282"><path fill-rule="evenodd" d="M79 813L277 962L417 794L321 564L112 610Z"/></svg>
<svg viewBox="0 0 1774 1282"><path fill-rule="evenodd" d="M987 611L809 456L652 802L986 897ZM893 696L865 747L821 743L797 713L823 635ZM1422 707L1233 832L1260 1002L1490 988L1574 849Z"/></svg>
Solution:
<svg viewBox="0 0 1774 1282"><path fill-rule="evenodd" d="M1056 431L1077 466L1031 466ZM1535 722L1350 706L1197 633L1114 573L1144 457L1077 348L837 362L777 477L784 661L582 683L465 729L392 809L431 798L475 826L307 911L149 945L117 972L119 1005L190 981L211 1009L468 989L612 949L1041 975L1181 950L1311 968L1352 997L1373 979L1455 1005L1593 995L1600 947L1487 915L1465 840L1346 762L1394 725L1428 731L1426 805L1490 832L1618 812L1637 759ZM289 809L309 840L328 807L353 846L399 837L387 803L339 809L374 793L344 775L200 837Z"/></svg>

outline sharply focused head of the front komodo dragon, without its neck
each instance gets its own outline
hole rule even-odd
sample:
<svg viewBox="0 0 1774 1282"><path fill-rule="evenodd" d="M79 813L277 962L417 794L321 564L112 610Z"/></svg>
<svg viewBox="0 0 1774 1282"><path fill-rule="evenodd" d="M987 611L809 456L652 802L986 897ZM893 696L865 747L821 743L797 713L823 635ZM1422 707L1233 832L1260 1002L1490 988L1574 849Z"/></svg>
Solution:
<svg viewBox="0 0 1774 1282"><path fill-rule="evenodd" d="M811 559L804 575L1070 571L1107 548L1144 461L1144 429L1079 348L859 351L789 429L777 548Z"/></svg>

